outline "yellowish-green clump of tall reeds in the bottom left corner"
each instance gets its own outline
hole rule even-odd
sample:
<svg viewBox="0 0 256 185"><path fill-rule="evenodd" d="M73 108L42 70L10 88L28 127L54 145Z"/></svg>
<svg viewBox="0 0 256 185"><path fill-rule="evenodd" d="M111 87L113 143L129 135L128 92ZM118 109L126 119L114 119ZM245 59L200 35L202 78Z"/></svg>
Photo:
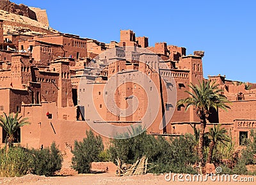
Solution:
<svg viewBox="0 0 256 185"><path fill-rule="evenodd" d="M22 147L0 150L0 176L15 177L26 175L29 170L28 151Z"/></svg>

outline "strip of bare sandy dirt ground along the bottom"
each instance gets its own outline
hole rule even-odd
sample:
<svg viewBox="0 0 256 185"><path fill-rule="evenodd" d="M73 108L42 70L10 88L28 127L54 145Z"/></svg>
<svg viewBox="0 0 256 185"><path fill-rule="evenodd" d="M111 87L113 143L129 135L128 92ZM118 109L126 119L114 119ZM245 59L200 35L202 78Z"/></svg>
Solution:
<svg viewBox="0 0 256 185"><path fill-rule="evenodd" d="M59 176L59 177L45 177L28 174L23 177L2 177L0 178L0 184L225 184L225 185L242 185L242 184L255 184L255 176L239 176L237 180L241 180L241 177L252 177L254 182L212 182L210 179L205 182L179 182L177 179L175 182L166 181L164 175L138 175L130 177L117 177L113 173L104 174L75 174L72 176Z"/></svg>

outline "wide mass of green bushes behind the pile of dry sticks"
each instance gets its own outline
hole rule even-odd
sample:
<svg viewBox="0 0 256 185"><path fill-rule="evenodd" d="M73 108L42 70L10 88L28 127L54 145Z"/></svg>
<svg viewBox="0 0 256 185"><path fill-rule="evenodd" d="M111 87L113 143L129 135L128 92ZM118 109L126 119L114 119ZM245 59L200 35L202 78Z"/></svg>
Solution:
<svg viewBox="0 0 256 185"><path fill-rule="evenodd" d="M137 133L141 134L137 135ZM111 141L109 152L113 162L116 162L115 159L119 157L122 162L132 164L145 155L148 163L151 164L148 166L151 168L149 172L195 173L191 164L194 164L198 157L193 135L170 138L170 141L167 141L161 136L156 138L153 135L147 135L141 127L132 128L129 135L131 138L116 138ZM133 135L136 136L132 137Z"/></svg>

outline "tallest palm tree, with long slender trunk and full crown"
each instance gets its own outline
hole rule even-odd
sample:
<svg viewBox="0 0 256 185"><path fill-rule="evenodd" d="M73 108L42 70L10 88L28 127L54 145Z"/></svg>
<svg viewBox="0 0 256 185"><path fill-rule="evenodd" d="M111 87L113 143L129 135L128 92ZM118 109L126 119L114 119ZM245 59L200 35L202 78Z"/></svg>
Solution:
<svg viewBox="0 0 256 185"><path fill-rule="evenodd" d="M206 120L211 114L210 110L214 108L218 111L218 108L227 110L230 101L227 100L227 97L221 92L222 89L218 89L218 84L215 84L215 81L211 83L211 80L199 82L199 85L188 85L192 92L185 91L190 96L186 99L179 100L177 105L186 105L186 110L189 107L195 106L196 115L200 118L200 135L198 143L198 156L202 165L204 165L204 133Z"/></svg>

